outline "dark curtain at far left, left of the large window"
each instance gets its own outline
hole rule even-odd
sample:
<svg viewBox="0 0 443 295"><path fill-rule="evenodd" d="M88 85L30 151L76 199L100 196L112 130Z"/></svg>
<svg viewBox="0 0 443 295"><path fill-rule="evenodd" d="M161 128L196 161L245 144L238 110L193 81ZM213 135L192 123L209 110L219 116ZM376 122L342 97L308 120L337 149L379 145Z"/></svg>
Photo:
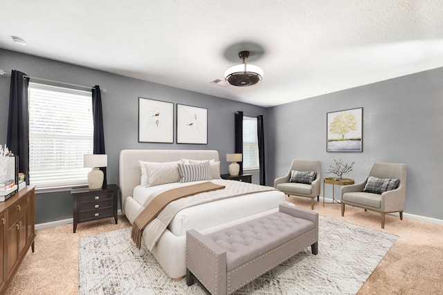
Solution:
<svg viewBox="0 0 443 295"><path fill-rule="evenodd" d="M29 184L29 78L17 70L11 71L9 94L8 149L19 156L19 172L26 175Z"/></svg>

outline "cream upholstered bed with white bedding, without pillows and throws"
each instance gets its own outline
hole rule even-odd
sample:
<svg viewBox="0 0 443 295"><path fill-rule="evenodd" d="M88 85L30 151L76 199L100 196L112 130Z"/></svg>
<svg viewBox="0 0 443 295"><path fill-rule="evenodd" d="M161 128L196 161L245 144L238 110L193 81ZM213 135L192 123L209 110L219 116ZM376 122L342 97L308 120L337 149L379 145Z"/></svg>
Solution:
<svg viewBox="0 0 443 295"><path fill-rule="evenodd" d="M219 171L214 171L217 167L219 169L217 151L123 150L120 152L119 162L121 202L122 211L131 224L147 204L147 195L156 190L163 191L186 185L170 182L146 187L145 180L141 178L141 163L139 161L167 163L182 159L210 160L212 175L216 176L218 173L218 176L210 181L216 184L226 184L227 187L250 185L234 180L219 179ZM174 216L168 228L156 240L150 251L170 278L183 278L186 275L186 231L188 229L196 229L202 234L208 234L277 212L279 204L284 204L284 193L270 189L188 207ZM152 245L152 237L150 238L147 233L148 231L143 231L142 240L146 245Z"/></svg>

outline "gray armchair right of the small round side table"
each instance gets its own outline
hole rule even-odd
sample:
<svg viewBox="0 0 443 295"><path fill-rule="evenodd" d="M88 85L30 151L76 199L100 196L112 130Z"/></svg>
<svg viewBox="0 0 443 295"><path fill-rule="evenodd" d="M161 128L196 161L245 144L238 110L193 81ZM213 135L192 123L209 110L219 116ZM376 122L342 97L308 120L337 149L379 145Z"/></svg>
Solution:
<svg viewBox="0 0 443 295"><path fill-rule="evenodd" d="M398 179L397 188L384 191L381 194L365 192L363 189L368 178ZM381 184L381 183L378 183ZM378 187L383 191L386 182ZM377 189L376 189L377 190ZM345 216L345 205L359 207L381 213L381 228L385 228L385 214L399 212L403 220L404 201L406 198L406 164L374 163L366 179L359 184L350 184L341 187L341 216Z"/></svg>

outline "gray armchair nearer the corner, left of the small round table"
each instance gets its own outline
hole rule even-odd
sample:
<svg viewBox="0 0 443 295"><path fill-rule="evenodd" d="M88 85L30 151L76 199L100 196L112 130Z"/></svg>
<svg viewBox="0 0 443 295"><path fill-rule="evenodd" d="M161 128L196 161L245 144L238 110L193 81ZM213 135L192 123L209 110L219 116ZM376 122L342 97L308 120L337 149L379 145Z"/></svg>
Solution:
<svg viewBox="0 0 443 295"><path fill-rule="evenodd" d="M311 184L290 182L291 171L316 171L316 178ZM275 178L274 187L288 196L311 198L311 209L314 210L314 198L320 199L320 161L292 160L288 173L281 178Z"/></svg>

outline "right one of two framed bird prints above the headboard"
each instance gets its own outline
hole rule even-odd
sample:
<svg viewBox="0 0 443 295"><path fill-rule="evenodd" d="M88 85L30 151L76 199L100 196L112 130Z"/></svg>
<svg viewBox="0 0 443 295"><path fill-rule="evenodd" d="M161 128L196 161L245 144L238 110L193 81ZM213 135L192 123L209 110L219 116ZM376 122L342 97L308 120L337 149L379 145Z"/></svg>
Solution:
<svg viewBox="0 0 443 295"><path fill-rule="evenodd" d="M208 144L208 109L177 104L177 144Z"/></svg>

